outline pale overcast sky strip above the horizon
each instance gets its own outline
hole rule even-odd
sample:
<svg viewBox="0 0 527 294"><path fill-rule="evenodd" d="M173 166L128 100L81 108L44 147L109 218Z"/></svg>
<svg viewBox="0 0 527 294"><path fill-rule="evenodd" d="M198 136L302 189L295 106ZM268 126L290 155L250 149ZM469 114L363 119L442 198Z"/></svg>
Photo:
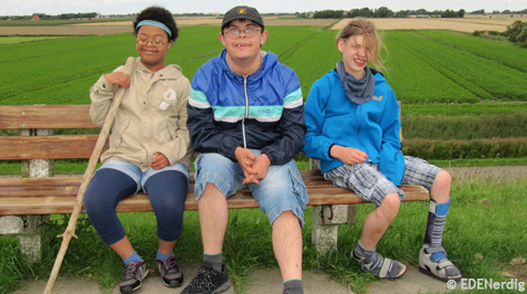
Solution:
<svg viewBox="0 0 527 294"><path fill-rule="evenodd" d="M172 13L224 13L235 6L245 4L256 8L261 13L267 12L305 12L319 10L351 10L355 8L376 9L388 7L393 11L399 10L460 10L466 12L484 9L485 12L494 10L519 11L527 9L526 0L0 0L0 15L30 15L33 13L62 14L78 12L99 12L101 14L137 13L148 6L161 6Z"/></svg>

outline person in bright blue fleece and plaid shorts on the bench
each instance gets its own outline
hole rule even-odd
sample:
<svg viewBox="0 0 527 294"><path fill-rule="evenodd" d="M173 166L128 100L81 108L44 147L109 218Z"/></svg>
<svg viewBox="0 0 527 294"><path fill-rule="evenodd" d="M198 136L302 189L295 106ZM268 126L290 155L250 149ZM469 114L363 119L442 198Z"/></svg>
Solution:
<svg viewBox="0 0 527 294"><path fill-rule="evenodd" d="M351 20L338 34L342 60L313 84L305 114L304 153L320 159L324 177L354 190L377 206L366 219L352 258L363 271L381 279L397 279L407 266L376 252L377 243L397 217L404 193L401 183L422 185L431 196L420 270L442 281L461 279L460 270L442 248L451 202L449 172L400 151L401 123L393 91L382 74L380 40L373 24Z"/></svg>

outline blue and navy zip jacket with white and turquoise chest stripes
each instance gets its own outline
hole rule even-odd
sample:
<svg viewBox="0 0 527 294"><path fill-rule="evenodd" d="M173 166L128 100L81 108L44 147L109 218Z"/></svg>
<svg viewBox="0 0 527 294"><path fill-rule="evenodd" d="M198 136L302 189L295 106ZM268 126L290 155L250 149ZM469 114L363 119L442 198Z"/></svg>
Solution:
<svg viewBox="0 0 527 294"><path fill-rule="evenodd" d="M304 146L301 83L271 52L250 76L230 69L225 50L203 64L192 78L188 115L191 146L200 153L235 161L240 146L260 149L272 165L284 165Z"/></svg>

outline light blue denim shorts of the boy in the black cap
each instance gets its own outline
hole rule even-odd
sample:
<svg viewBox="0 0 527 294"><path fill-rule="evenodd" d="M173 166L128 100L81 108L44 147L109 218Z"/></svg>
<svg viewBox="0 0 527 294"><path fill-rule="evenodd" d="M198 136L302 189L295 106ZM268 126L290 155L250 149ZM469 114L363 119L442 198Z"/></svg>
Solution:
<svg viewBox="0 0 527 294"><path fill-rule="evenodd" d="M260 150L252 150L256 156ZM271 224L284 211L295 213L301 227L304 227L304 209L308 198L306 186L294 160L282 166L270 166L267 175L260 183L243 185L243 169L238 161L220 154L201 154L196 159L196 199L203 193L207 182L212 182L225 196L232 196L249 187Z"/></svg>

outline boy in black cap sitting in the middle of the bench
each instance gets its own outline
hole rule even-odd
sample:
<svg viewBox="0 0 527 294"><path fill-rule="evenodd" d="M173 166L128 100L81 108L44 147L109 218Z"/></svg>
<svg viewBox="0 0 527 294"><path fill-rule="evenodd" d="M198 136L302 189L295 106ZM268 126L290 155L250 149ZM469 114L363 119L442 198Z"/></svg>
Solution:
<svg viewBox="0 0 527 294"><path fill-rule="evenodd" d="M293 157L304 146L304 101L295 72L261 51L266 39L256 9L232 8L220 32L225 49L192 80L187 125L200 153L194 190L203 263L182 293L229 288L222 258L226 197L245 186L272 224L284 293L303 293L302 225L308 199Z"/></svg>

